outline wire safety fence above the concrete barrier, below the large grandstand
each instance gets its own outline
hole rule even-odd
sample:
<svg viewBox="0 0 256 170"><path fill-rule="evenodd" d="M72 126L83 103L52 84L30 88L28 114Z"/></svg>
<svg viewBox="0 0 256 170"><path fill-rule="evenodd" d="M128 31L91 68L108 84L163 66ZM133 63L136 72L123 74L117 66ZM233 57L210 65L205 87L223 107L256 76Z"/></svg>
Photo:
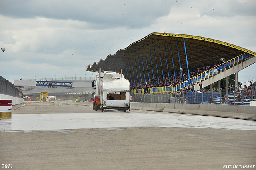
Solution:
<svg viewBox="0 0 256 170"><path fill-rule="evenodd" d="M151 89L150 89L151 90ZM143 92L139 90L137 92ZM222 89L204 90L201 92L182 93L133 93L131 102L146 103L187 103L187 104L233 104L250 105L256 100L255 87L250 90L239 90L234 86Z"/></svg>

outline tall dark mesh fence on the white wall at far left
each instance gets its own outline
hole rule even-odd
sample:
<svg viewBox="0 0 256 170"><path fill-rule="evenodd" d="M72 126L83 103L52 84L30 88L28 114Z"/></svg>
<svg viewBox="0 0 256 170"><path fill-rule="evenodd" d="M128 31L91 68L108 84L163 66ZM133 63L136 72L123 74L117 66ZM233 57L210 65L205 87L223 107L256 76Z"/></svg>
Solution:
<svg viewBox="0 0 256 170"><path fill-rule="evenodd" d="M12 97L22 97L22 92L2 76L0 76L0 94Z"/></svg>

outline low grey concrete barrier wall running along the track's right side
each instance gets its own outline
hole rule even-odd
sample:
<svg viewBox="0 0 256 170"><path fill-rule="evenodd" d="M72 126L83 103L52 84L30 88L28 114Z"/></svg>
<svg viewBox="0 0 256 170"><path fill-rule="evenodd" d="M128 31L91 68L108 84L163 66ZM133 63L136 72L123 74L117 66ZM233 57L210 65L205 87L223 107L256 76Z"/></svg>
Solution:
<svg viewBox="0 0 256 170"><path fill-rule="evenodd" d="M226 104L131 103L131 109L256 120L256 106Z"/></svg>

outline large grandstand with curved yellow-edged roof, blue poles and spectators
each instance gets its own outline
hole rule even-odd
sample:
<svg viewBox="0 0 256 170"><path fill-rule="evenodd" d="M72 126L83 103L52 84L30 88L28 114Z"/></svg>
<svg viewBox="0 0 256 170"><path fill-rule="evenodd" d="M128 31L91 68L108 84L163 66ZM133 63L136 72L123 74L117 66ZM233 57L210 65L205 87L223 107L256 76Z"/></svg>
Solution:
<svg viewBox="0 0 256 170"><path fill-rule="evenodd" d="M218 82L220 89L220 80L234 73L237 85L238 72L254 64L255 56L255 52L211 38L152 32L116 54L88 65L86 70L120 72L122 68L131 88L142 89L147 84L160 87L157 92L163 94L175 93L193 81L196 90L199 82L210 88ZM202 66L207 68L201 70ZM195 73L198 69L200 72Z"/></svg>

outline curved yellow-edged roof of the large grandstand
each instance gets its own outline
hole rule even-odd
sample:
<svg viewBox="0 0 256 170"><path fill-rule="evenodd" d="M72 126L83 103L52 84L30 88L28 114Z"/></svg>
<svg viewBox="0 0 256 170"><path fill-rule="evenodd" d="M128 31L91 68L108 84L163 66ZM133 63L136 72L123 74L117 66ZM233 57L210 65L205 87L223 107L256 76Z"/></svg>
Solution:
<svg viewBox="0 0 256 170"><path fill-rule="evenodd" d="M125 65L128 66L128 61L130 61L131 68L130 59L135 59L136 62L140 64L143 62L144 66L146 66L146 62L148 62L148 65L151 65L150 55L152 61L157 60L157 65L159 64L158 67L161 66L160 60L162 64L166 66L167 58L168 66L170 65L169 69L173 68L172 57L174 66L179 68L178 55L180 55L181 67L186 68L185 47L188 66L190 67L210 62L216 63L219 61L219 58L230 60L244 53L256 55L255 52L245 48L211 38L152 32L148 36L130 44L127 48L118 50L116 54L110 54L106 59L102 58L99 62L94 62L92 65L90 64L86 67L86 70L98 72L99 68L101 68L103 71L112 71L113 68L114 70L116 68L125 68ZM153 68L156 68L156 62L152 65ZM167 70L165 66L163 66L163 70Z"/></svg>

